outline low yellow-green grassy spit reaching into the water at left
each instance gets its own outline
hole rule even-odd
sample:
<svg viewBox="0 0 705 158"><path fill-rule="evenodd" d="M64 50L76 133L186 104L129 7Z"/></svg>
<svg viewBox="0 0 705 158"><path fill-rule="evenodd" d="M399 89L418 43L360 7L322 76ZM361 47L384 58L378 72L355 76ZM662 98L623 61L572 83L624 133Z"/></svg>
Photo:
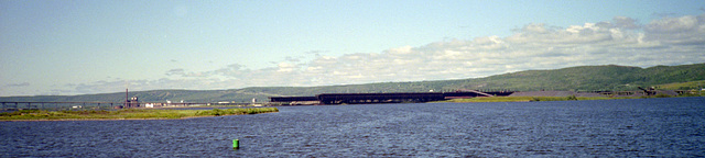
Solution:
<svg viewBox="0 0 705 158"><path fill-rule="evenodd" d="M0 113L0 121L57 120L170 120L279 112L276 108L213 110L119 110L119 111L42 111L21 110Z"/></svg>

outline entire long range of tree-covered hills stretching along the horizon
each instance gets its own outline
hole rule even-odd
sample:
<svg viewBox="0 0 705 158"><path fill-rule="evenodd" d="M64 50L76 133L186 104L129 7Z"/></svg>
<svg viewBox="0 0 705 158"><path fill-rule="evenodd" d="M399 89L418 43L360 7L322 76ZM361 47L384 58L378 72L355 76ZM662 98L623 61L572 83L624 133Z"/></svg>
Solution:
<svg viewBox="0 0 705 158"><path fill-rule="evenodd" d="M144 102L250 102L253 98L268 101L268 97L315 95L318 93L358 92L427 92L474 90L514 91L621 91L638 90L637 87L664 84L669 89L695 89L705 80L705 64L682 66L655 66L650 68L617 65L579 66L555 70L527 70L496 75L485 78L460 80L380 82L324 87L253 87L231 90L152 90L130 92ZM688 83L681 83L688 82ZM671 86L673 83L676 86ZM681 84L677 84L681 83ZM666 86L668 84L668 86ZM685 86L683 86L685 84ZM705 84L703 86L705 87ZM2 97L0 101L106 101L121 102L124 93L83 95Z"/></svg>

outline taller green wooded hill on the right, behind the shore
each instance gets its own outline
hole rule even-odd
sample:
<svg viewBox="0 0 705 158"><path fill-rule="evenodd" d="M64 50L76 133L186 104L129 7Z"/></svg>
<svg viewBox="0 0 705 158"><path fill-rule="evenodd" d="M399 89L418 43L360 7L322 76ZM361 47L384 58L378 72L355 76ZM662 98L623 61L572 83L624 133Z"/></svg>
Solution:
<svg viewBox="0 0 705 158"><path fill-rule="evenodd" d="M528 70L479 79L451 81L444 88L512 89L520 91L619 91L663 83L705 80L705 64L657 66L581 66L556 70ZM446 82L449 83L449 82Z"/></svg>

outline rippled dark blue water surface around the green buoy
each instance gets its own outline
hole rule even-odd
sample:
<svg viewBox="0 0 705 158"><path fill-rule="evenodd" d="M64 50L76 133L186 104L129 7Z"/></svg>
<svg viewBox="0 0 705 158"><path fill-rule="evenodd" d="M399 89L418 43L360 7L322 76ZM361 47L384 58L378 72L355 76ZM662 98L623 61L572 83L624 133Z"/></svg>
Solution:
<svg viewBox="0 0 705 158"><path fill-rule="evenodd" d="M0 157L705 156L705 98L279 109L188 120L0 122Z"/></svg>

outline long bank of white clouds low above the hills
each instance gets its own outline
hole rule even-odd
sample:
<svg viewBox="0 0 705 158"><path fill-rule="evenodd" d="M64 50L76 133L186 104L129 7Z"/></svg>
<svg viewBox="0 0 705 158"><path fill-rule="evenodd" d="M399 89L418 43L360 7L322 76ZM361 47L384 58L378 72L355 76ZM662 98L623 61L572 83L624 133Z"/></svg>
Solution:
<svg viewBox="0 0 705 158"><path fill-rule="evenodd" d="M527 24L506 37L449 40L380 53L288 57L249 69L232 64L212 71L176 68L159 80L130 80L130 89L234 89L306 87L387 81L477 78L529 69L585 65L650 67L705 61L705 14L663 18L646 24L616 16L568 27ZM311 59L313 58L313 59ZM126 81L74 84L75 93L113 92Z"/></svg>

